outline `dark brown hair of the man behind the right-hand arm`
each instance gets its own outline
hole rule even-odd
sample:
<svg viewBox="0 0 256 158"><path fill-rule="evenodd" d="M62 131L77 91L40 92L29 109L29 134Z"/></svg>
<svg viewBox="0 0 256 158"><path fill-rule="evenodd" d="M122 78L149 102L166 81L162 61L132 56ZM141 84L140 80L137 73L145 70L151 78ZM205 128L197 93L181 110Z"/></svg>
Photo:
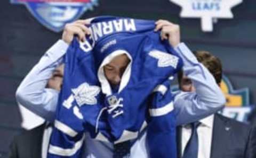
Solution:
<svg viewBox="0 0 256 158"><path fill-rule="evenodd" d="M209 51L205 50L197 50L193 51L193 53L195 54L198 62L202 63L213 75L217 84L220 84L222 79L222 65L220 59L212 55ZM178 72L179 86L181 83L182 76L183 71L181 70Z"/></svg>

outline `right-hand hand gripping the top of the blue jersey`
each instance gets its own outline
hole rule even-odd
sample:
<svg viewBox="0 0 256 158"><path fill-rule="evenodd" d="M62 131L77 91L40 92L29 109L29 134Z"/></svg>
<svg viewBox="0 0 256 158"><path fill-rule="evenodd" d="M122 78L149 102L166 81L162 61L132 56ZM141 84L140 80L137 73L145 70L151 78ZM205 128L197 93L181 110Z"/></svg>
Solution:
<svg viewBox="0 0 256 158"><path fill-rule="evenodd" d="M155 31L161 30L161 39L169 40L172 47L177 47L180 43L180 26L167 20L158 20Z"/></svg>

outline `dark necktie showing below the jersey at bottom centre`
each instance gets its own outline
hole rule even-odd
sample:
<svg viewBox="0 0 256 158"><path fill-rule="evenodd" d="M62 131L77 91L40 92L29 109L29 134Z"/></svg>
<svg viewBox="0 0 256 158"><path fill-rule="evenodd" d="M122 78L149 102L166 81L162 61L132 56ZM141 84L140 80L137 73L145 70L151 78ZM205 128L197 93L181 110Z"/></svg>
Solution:
<svg viewBox="0 0 256 158"><path fill-rule="evenodd" d="M125 141L121 143L114 144L114 154L113 158L123 158L130 155L131 142Z"/></svg>

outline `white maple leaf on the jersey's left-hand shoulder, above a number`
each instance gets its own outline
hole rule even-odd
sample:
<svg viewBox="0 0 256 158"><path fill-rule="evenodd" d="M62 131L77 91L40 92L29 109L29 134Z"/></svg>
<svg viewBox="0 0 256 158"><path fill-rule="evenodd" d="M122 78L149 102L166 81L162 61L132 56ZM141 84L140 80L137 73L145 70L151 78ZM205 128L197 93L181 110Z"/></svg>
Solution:
<svg viewBox="0 0 256 158"><path fill-rule="evenodd" d="M83 104L97 104L97 99L95 97L100 93L100 87L89 85L85 82L79 85L76 89L71 89L71 91L74 94L78 106L81 107Z"/></svg>

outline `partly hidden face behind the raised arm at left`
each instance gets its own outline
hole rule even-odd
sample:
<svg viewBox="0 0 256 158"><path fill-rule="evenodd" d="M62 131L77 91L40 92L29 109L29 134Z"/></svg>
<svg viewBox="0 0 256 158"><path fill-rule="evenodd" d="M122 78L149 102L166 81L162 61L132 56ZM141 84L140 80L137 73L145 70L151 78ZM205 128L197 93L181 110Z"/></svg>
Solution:
<svg viewBox="0 0 256 158"><path fill-rule="evenodd" d="M54 69L52 77L49 79L47 83L47 88L54 89L60 91L64 74L64 64L61 64L57 68Z"/></svg>

